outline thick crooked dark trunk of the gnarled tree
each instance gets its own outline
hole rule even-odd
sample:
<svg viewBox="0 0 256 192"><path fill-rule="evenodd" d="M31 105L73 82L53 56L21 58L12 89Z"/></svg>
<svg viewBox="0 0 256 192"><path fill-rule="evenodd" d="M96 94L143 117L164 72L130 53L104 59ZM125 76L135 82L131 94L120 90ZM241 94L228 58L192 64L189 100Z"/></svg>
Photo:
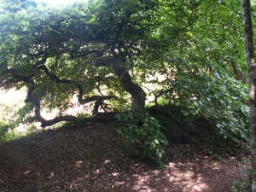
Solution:
<svg viewBox="0 0 256 192"><path fill-rule="evenodd" d="M132 113L145 113L146 93L138 85L132 82L131 75L125 68L125 58L121 55L112 57L105 56L96 59L95 67L108 66L112 67L114 73L119 79L121 87L131 94Z"/></svg>

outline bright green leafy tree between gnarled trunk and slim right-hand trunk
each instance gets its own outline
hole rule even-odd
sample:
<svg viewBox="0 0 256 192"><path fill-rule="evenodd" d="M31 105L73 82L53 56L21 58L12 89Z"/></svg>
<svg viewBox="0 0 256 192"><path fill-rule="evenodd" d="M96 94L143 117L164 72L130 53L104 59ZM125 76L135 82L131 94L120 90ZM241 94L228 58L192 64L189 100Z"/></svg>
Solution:
<svg viewBox="0 0 256 192"><path fill-rule="evenodd" d="M165 86L172 91L171 101L187 108L183 110L187 119L203 115L224 137L247 138L247 109L242 105L247 97L247 67L241 43L241 2L195 1L186 11L185 24L177 24L186 32L178 33L177 42L172 40L175 43L166 53L166 71L161 69L170 74Z"/></svg>

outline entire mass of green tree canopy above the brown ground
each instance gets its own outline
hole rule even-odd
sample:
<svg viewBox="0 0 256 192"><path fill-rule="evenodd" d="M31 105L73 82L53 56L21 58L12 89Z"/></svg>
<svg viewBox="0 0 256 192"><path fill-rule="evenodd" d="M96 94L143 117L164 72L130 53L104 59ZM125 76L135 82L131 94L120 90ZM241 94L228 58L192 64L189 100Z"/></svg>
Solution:
<svg viewBox="0 0 256 192"><path fill-rule="evenodd" d="M24 119L42 126L73 121L78 117L64 113L73 96L93 103L94 117L85 121L100 109L146 114L147 94L154 97L149 104L185 107L191 121L206 117L224 137L247 138L239 0L1 5L0 86L26 87ZM58 108L59 115L46 120L43 108Z"/></svg>

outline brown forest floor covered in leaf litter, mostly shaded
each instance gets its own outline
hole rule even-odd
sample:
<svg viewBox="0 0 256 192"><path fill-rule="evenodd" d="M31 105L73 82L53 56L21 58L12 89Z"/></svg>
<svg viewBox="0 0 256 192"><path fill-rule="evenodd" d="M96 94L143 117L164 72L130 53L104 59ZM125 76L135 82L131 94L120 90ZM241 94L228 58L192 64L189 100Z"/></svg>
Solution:
<svg viewBox="0 0 256 192"><path fill-rule="evenodd" d="M189 144L165 147L166 169L160 170L125 143L117 127L117 123L64 127L2 143L0 191L227 192L233 179L247 179L243 173L250 168L248 155L241 157L238 151L216 156L211 152L216 146L200 147L207 138L196 136Z"/></svg>

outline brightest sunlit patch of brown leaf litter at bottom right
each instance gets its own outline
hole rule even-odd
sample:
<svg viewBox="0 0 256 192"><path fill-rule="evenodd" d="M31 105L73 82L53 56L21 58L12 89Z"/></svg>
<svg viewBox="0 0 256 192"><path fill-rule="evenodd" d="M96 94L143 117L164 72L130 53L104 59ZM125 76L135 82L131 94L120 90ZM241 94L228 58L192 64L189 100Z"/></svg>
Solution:
<svg viewBox="0 0 256 192"><path fill-rule="evenodd" d="M136 191L203 192L224 189L220 181L229 181L234 170L225 169L207 156L195 162L169 162L166 170L133 174L132 189Z"/></svg>

